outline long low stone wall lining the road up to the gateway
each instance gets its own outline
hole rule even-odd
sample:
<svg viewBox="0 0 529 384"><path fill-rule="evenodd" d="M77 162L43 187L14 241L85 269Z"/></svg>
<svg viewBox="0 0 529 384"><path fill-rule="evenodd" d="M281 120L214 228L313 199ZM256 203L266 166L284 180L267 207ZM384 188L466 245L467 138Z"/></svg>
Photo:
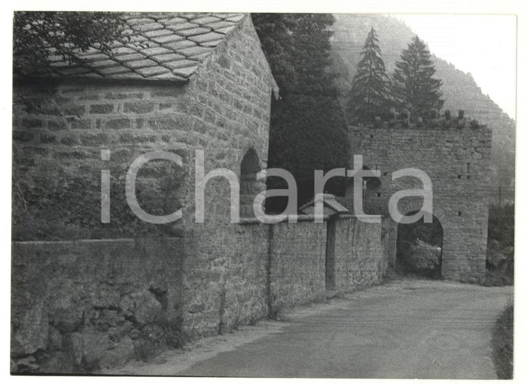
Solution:
<svg viewBox="0 0 529 384"><path fill-rule="evenodd" d="M336 289L381 282L382 225L336 223ZM184 239L14 242L11 370L97 371L324 298L326 228L248 223Z"/></svg>

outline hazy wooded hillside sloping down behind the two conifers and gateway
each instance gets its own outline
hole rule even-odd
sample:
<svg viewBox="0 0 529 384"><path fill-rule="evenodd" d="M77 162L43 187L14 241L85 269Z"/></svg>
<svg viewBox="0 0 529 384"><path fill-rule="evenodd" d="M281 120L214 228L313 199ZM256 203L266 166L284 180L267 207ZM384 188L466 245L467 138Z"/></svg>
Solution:
<svg viewBox="0 0 529 384"><path fill-rule="evenodd" d="M383 15L335 14L332 38L335 65L333 71L339 75L338 88L342 102L345 102L347 91L356 65L360 61L360 52L371 26L379 34L379 46L386 63L388 74L393 73L395 61L413 38L413 31L406 24L393 17ZM419 36L420 37L420 36ZM494 182L491 186L492 198L498 200L498 186L502 188L502 198L514 194L514 141L516 125L500 107L475 83L470 73L458 70L442 58L432 56L437 73L443 81L441 91L445 104L443 109L456 113L464 109L465 115L479 120L493 131L492 166ZM345 69L347 68L347 69ZM507 192L510 191L510 192Z"/></svg>

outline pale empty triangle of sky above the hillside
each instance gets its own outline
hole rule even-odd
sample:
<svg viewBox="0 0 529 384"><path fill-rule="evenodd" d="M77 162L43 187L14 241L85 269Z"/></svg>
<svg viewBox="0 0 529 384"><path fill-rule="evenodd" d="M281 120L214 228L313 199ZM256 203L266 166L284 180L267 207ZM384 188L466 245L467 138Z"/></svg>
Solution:
<svg viewBox="0 0 529 384"><path fill-rule="evenodd" d="M432 54L471 72L482 92L516 118L516 16L392 16L424 40Z"/></svg>

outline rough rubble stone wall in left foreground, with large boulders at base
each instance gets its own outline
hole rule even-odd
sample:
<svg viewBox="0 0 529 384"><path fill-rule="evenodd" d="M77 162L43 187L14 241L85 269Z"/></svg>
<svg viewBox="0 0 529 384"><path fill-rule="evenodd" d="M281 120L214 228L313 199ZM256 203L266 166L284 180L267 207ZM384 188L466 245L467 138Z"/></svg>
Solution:
<svg viewBox="0 0 529 384"><path fill-rule="evenodd" d="M83 372L182 344L180 239L12 250L11 371Z"/></svg>

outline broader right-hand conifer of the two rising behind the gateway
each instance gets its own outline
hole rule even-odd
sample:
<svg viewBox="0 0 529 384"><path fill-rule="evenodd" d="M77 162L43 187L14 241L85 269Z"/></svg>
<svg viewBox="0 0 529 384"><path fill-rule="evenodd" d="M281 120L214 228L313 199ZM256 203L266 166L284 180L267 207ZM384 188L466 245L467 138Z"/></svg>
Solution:
<svg viewBox="0 0 529 384"><path fill-rule="evenodd" d="M395 63L393 97L400 108L412 115L428 118L433 110L443 107L441 80L434 79L435 67L425 42L415 36Z"/></svg>

